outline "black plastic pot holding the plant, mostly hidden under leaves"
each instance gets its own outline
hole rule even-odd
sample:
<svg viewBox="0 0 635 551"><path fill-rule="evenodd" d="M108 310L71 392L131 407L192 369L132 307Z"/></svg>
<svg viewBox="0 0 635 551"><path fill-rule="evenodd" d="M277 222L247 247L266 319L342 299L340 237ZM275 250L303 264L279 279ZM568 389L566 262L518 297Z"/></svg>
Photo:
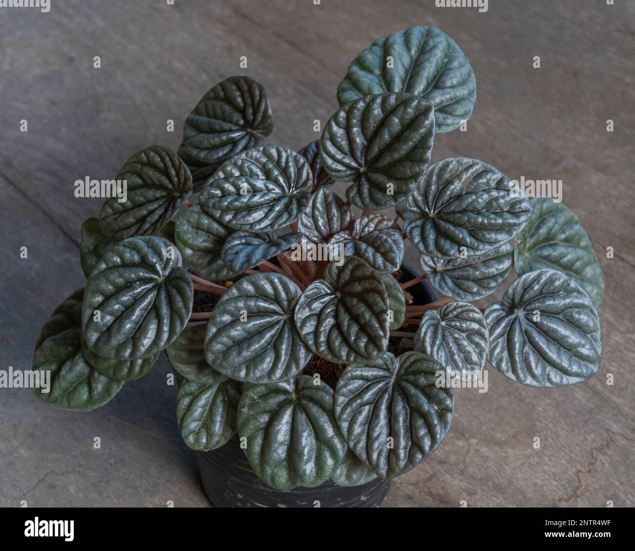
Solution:
<svg viewBox="0 0 635 551"><path fill-rule="evenodd" d="M417 277L402 265L403 281ZM408 288L413 303L424 305L436 300L424 283ZM197 451L205 495L215 507L379 507L391 486L382 479L344 488L326 481L316 488L273 489L253 472L240 448L238 435L212 451Z"/></svg>

